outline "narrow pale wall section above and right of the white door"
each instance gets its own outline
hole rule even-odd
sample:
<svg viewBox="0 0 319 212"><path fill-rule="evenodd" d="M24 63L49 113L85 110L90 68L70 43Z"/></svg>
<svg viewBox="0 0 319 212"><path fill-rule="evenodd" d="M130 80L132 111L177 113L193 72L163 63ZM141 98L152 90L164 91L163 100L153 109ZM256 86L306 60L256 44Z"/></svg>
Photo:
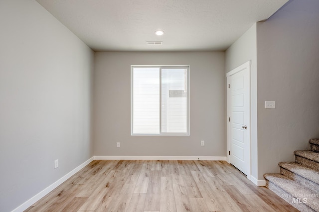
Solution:
<svg viewBox="0 0 319 212"><path fill-rule="evenodd" d="M257 180L257 31L256 23L251 26L225 54L226 73L251 61L251 176ZM226 74L225 74L226 76ZM230 150L230 149L229 149ZM254 181L254 179L252 179ZM254 183L257 183L254 181Z"/></svg>

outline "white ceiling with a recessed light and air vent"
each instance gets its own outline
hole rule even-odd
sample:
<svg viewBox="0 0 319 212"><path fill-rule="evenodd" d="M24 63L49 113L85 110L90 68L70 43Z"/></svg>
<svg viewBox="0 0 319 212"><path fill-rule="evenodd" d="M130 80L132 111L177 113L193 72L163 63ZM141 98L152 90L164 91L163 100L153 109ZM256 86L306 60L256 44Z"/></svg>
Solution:
<svg viewBox="0 0 319 212"><path fill-rule="evenodd" d="M94 51L224 51L288 0L37 1Z"/></svg>

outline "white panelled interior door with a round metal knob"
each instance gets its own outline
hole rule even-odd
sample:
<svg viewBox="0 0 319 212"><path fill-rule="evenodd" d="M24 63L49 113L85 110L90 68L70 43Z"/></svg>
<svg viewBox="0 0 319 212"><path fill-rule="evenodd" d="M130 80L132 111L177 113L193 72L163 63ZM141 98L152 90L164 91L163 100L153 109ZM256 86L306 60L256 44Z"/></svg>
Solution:
<svg viewBox="0 0 319 212"><path fill-rule="evenodd" d="M250 61L227 73L229 161L250 178Z"/></svg>

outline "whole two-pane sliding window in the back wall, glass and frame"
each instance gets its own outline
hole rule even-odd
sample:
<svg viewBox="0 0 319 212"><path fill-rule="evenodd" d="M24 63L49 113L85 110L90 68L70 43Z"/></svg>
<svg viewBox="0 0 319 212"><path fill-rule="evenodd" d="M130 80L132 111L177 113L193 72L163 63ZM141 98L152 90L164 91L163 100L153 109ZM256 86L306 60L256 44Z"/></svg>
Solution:
<svg viewBox="0 0 319 212"><path fill-rule="evenodd" d="M189 66L132 66L132 135L189 135Z"/></svg>

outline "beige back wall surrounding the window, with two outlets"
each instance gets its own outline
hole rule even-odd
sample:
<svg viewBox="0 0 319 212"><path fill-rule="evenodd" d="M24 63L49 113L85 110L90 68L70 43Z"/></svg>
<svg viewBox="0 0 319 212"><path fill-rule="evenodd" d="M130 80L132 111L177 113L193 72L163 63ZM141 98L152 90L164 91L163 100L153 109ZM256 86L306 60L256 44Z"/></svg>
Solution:
<svg viewBox="0 0 319 212"><path fill-rule="evenodd" d="M131 136L131 65L190 65L190 136ZM226 156L224 79L224 52L95 53L94 155Z"/></svg>

